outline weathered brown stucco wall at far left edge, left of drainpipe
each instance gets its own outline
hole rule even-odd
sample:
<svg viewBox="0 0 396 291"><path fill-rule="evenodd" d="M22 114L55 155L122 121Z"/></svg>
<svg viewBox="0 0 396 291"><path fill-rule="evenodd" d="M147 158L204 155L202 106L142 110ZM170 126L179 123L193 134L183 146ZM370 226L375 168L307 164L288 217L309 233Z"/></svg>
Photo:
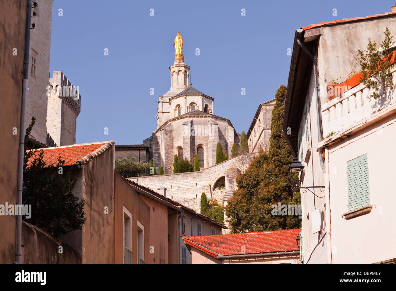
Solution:
<svg viewBox="0 0 396 291"><path fill-rule="evenodd" d="M19 119L21 118L26 1L0 0L0 204L17 202ZM13 49L17 55L13 55ZM17 134L13 135L13 127ZM0 263L12 264L16 253L16 218L0 216ZM4 235L7 234L7 235Z"/></svg>

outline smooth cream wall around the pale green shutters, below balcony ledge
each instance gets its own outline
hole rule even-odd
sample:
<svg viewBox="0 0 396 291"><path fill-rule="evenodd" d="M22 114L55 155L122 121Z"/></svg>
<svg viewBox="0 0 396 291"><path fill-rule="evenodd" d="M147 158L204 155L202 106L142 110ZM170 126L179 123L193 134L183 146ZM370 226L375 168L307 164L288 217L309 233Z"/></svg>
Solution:
<svg viewBox="0 0 396 291"><path fill-rule="evenodd" d="M388 155L396 144L396 114L329 146L331 245L333 263L374 263L396 258L394 169ZM346 162L367 154L370 213L348 212Z"/></svg>

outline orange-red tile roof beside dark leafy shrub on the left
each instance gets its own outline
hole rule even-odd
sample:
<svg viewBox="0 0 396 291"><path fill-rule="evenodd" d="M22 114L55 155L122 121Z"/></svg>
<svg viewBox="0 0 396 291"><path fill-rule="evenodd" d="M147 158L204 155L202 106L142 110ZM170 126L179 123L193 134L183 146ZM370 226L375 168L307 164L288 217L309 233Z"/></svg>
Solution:
<svg viewBox="0 0 396 291"><path fill-rule="evenodd" d="M38 156L40 151L44 152L44 162L46 167L51 167L52 164L57 164L59 155L65 160L65 165L85 164L90 160L102 154L105 150L114 145L114 141L102 141L96 143L83 143L80 145L68 146L55 146L49 148L41 148L34 152L33 156L29 159L28 165L32 162L33 158ZM32 151L28 150L27 152Z"/></svg>

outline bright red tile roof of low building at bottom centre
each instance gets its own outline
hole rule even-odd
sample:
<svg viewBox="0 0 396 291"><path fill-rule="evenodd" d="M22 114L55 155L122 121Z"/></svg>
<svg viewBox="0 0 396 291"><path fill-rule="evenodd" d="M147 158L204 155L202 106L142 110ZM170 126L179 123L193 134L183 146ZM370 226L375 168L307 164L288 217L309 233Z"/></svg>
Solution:
<svg viewBox="0 0 396 291"><path fill-rule="evenodd" d="M228 255L299 251L296 238L301 229L244 232L215 236L184 236L188 245L215 258Z"/></svg>

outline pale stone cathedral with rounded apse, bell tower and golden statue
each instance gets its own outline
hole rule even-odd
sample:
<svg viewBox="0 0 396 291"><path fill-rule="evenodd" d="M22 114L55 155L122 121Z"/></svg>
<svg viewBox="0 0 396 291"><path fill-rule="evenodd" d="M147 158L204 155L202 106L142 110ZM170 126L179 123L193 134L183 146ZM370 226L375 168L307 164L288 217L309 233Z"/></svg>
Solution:
<svg viewBox="0 0 396 291"><path fill-rule="evenodd" d="M220 142L229 157L234 143L240 143L230 120L214 114L210 97L188 84L190 67L185 64L183 38L175 37L175 61L169 67L171 86L158 98L157 128L143 145L116 145L116 158L134 157L136 161L153 161L157 173L164 168L172 173L175 154L179 160L194 162L198 155L200 168L215 165L216 147Z"/></svg>

